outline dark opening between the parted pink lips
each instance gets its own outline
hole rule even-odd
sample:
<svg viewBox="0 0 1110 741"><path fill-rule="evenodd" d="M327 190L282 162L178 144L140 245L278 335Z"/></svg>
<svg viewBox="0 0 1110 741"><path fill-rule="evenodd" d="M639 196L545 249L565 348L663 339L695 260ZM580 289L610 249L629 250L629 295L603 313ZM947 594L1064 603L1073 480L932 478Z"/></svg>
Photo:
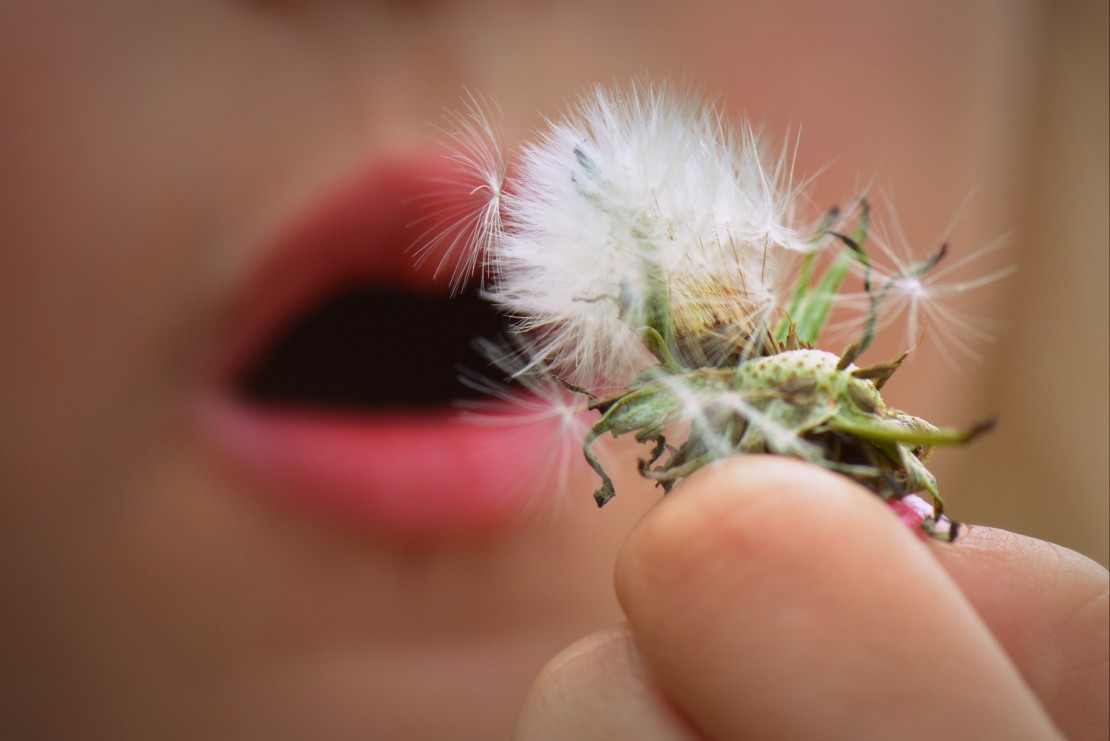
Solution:
<svg viewBox="0 0 1110 741"><path fill-rule="evenodd" d="M506 334L476 291L455 297L360 285L295 317L242 375L241 396L263 405L380 410L473 398L461 368L502 380L475 347Z"/></svg>

